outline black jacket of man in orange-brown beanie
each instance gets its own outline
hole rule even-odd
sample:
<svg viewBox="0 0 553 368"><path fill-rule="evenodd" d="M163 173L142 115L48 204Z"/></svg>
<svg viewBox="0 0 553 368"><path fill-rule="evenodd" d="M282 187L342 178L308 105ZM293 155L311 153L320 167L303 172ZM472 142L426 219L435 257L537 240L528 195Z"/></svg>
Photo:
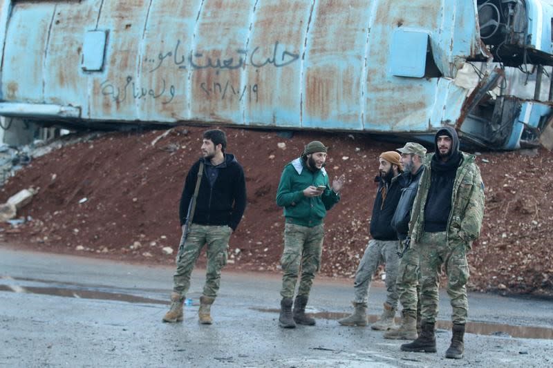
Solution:
<svg viewBox="0 0 553 368"><path fill-rule="evenodd" d="M386 200L382 206L382 186L384 179L380 178L378 191L373 206L373 215L371 217L371 236L375 240L397 240L397 233L392 229L391 221L397 202L400 201L404 179L402 175L397 175L391 180L386 193Z"/></svg>

